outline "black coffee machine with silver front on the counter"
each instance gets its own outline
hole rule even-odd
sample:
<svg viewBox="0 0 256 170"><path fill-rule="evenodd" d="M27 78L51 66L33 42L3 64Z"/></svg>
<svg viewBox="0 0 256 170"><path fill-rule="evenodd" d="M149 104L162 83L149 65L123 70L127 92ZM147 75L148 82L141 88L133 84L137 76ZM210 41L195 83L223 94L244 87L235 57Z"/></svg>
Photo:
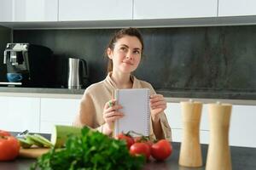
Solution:
<svg viewBox="0 0 256 170"><path fill-rule="evenodd" d="M44 88L52 83L51 49L31 43L8 43L3 56L7 73L21 73L22 87Z"/></svg>

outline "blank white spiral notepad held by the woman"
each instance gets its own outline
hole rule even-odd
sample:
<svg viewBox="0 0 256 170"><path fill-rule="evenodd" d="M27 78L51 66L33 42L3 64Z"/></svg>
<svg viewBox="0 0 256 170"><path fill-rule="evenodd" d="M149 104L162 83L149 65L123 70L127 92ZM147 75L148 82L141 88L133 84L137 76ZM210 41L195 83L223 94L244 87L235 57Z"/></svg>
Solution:
<svg viewBox="0 0 256 170"><path fill-rule="evenodd" d="M114 135L134 131L149 136L149 95L148 88L117 89L115 99L123 108L124 117L115 122Z"/></svg>

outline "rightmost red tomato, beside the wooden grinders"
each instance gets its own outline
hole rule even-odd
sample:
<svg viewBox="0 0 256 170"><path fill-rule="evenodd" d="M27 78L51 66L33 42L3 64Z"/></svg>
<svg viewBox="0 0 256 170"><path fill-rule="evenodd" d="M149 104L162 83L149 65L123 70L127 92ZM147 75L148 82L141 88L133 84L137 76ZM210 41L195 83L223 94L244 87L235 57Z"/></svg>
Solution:
<svg viewBox="0 0 256 170"><path fill-rule="evenodd" d="M165 160L168 156L172 154L172 144L166 140L161 139L151 146L151 156L158 161Z"/></svg>

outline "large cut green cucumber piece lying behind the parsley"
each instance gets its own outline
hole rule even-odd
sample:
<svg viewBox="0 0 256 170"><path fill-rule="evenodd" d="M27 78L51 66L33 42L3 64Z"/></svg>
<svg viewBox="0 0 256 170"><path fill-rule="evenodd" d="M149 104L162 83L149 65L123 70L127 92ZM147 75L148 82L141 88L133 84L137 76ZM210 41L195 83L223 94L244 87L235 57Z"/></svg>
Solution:
<svg viewBox="0 0 256 170"><path fill-rule="evenodd" d="M54 130L51 133L50 141L55 148L61 148L65 146L65 142L71 134L81 135L81 127L55 125Z"/></svg>

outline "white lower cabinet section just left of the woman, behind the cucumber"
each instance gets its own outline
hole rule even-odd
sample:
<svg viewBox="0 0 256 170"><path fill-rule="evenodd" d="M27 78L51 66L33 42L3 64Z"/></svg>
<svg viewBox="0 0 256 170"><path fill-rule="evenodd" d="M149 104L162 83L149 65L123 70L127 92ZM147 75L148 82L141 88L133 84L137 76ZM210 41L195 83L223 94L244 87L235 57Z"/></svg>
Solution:
<svg viewBox="0 0 256 170"><path fill-rule="evenodd" d="M80 99L41 99L40 132L51 133L55 124L72 125Z"/></svg>

